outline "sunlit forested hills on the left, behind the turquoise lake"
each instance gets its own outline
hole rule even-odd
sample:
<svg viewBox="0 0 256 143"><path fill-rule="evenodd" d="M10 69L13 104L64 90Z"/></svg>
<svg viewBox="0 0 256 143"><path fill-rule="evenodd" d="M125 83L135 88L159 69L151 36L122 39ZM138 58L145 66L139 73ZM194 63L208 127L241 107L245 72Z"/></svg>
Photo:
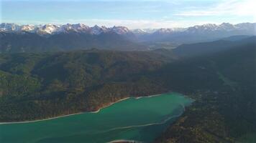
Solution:
<svg viewBox="0 0 256 143"><path fill-rule="evenodd" d="M95 111L124 97L166 92L144 74L169 61L173 58L156 52L97 49L1 54L0 120Z"/></svg>

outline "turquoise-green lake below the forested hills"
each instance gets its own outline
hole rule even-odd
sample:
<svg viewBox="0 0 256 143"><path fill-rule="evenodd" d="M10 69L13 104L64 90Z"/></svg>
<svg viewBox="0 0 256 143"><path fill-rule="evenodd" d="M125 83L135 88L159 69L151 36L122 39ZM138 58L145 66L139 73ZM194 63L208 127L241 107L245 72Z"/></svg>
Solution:
<svg viewBox="0 0 256 143"><path fill-rule="evenodd" d="M129 98L99 112L19 124L0 124L1 143L152 142L193 100L178 93ZM24 113L26 114L26 113Z"/></svg>

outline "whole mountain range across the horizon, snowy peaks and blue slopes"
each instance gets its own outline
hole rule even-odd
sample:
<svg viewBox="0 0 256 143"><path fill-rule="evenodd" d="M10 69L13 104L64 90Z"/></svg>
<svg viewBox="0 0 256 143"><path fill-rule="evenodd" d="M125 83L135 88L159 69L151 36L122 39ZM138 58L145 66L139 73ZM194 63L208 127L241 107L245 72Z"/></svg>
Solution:
<svg viewBox="0 0 256 143"><path fill-rule="evenodd" d="M131 30L125 26L2 23L0 24L0 52L67 51L91 48L122 51L159 49L163 48L161 47L163 43L176 46L214 41L229 36L252 36L256 33L255 27L256 23L223 23L188 28Z"/></svg>

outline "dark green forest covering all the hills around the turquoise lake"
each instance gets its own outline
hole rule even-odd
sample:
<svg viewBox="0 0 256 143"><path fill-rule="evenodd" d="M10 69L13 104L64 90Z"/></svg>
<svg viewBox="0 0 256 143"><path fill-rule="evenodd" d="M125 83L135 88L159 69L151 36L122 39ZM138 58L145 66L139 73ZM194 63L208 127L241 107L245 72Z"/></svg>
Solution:
<svg viewBox="0 0 256 143"><path fill-rule="evenodd" d="M1 54L0 121L95 111L124 97L174 91L196 102L156 142L235 142L256 132L250 41L186 58L165 49Z"/></svg>

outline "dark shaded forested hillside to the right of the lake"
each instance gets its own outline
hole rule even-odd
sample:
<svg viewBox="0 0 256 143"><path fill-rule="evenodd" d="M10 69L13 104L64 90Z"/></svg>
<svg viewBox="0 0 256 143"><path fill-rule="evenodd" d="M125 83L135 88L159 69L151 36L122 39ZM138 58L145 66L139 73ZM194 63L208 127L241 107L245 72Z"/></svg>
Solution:
<svg viewBox="0 0 256 143"><path fill-rule="evenodd" d="M255 42L247 43L188 59L168 69L166 72L183 67L175 79L184 80L185 89L200 89L202 85L196 87L197 82L204 82L206 88L190 94L196 102L156 142L255 142L255 53ZM211 72L216 73L215 77L210 76ZM197 77L195 73L201 74Z"/></svg>

